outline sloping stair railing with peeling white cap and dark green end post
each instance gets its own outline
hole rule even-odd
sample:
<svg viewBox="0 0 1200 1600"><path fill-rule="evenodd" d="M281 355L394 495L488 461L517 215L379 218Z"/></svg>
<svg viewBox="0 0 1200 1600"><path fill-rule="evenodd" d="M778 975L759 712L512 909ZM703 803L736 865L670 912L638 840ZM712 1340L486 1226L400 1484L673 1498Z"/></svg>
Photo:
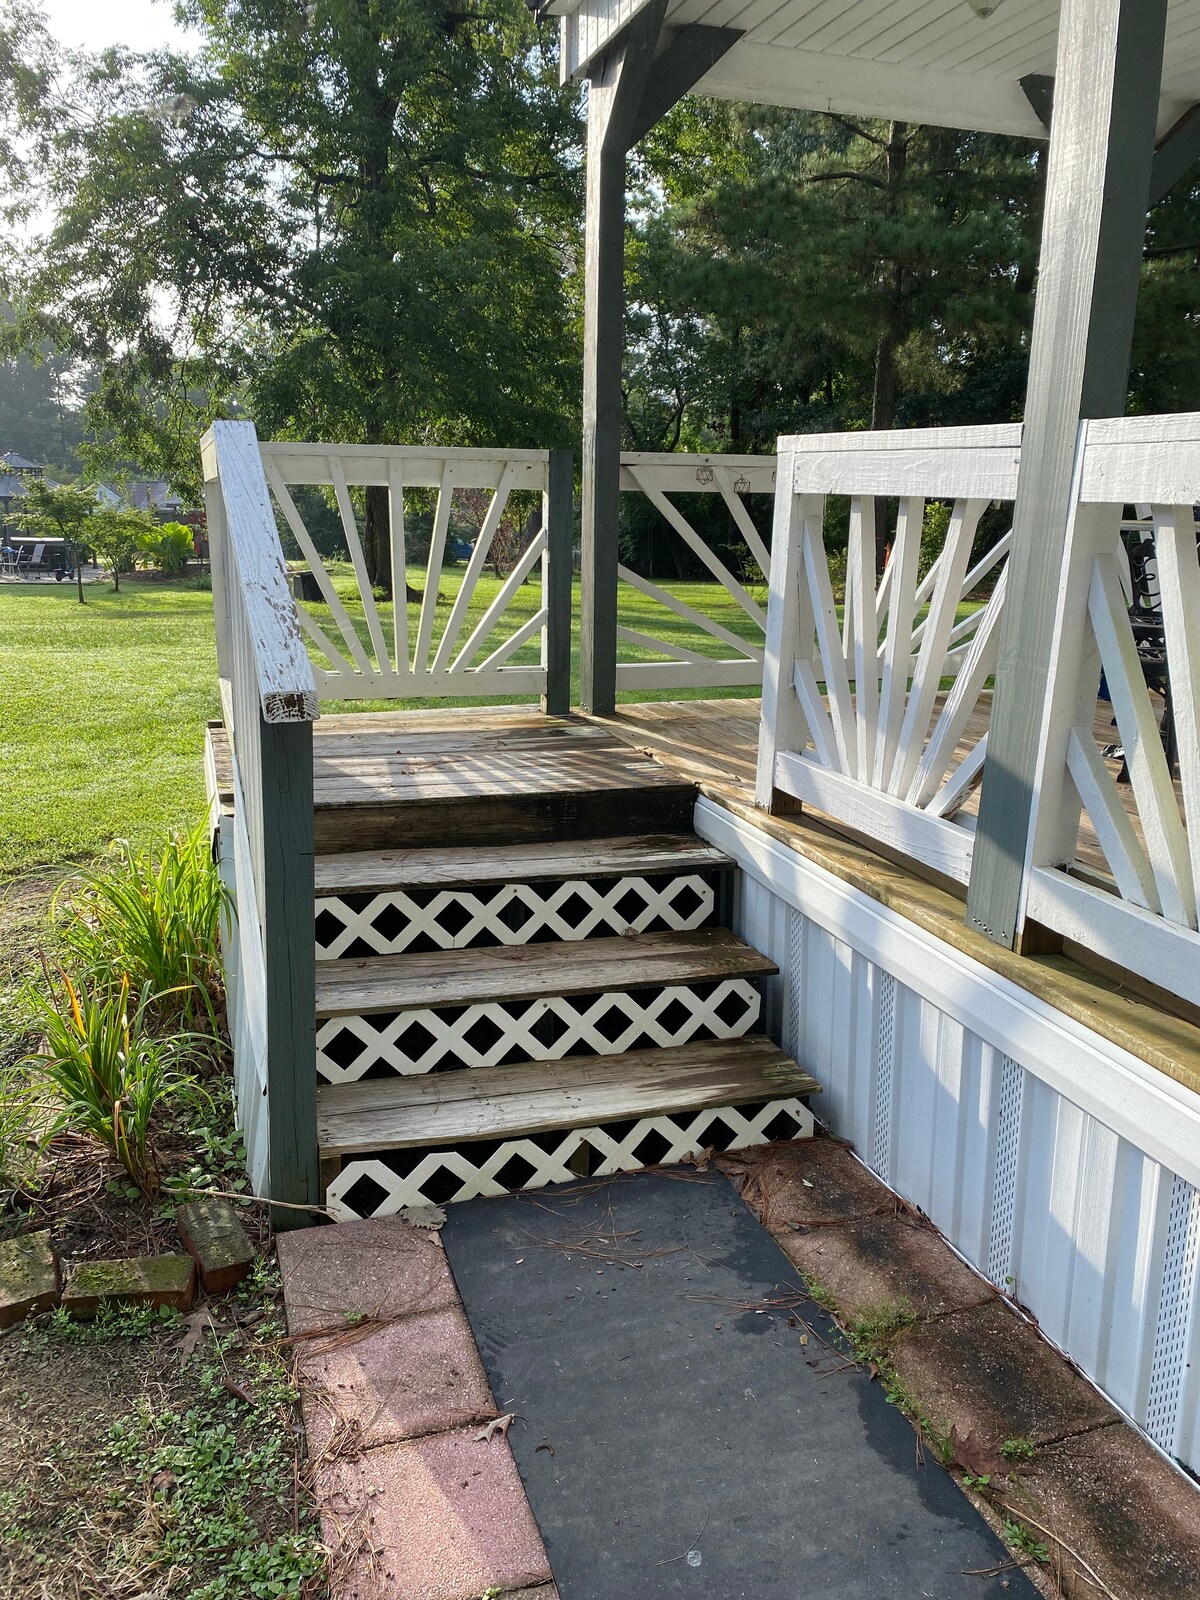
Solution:
<svg viewBox="0 0 1200 1600"><path fill-rule="evenodd" d="M238 1125L258 1194L320 1198L312 954L317 685L250 422L202 442L221 702L234 757L226 930ZM296 1221L282 1213L282 1221Z"/></svg>

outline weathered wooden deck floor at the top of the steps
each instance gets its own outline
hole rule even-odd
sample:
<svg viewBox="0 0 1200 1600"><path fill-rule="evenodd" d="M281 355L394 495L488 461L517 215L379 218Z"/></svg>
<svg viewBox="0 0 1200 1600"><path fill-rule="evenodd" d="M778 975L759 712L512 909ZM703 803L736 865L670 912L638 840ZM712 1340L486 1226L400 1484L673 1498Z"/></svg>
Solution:
<svg viewBox="0 0 1200 1600"><path fill-rule="evenodd" d="M989 714L990 694L984 694L958 755L978 741ZM1099 746L1117 738L1107 701L1096 704L1094 734ZM757 747L757 699L648 701L619 706L605 718L546 718L526 707L496 706L326 715L314 725L317 848L509 843L514 829L533 829L534 838L539 819L547 827L554 821L568 837L598 837L616 821L637 827L648 792L661 813L645 819L645 832L654 832L664 816L674 818L667 826L686 827L691 786L752 803ZM216 726L210 762L216 787L227 792L227 744ZM1115 773L1118 763L1110 766ZM1123 784L1120 794L1141 837L1131 786ZM528 806L533 797L541 802L538 813ZM978 806L976 786L958 819L971 827ZM403 834L397 834L397 816L405 819ZM856 837L832 818L821 819ZM867 843L890 854L880 842ZM1077 854L1098 882L1110 882L1086 816Z"/></svg>

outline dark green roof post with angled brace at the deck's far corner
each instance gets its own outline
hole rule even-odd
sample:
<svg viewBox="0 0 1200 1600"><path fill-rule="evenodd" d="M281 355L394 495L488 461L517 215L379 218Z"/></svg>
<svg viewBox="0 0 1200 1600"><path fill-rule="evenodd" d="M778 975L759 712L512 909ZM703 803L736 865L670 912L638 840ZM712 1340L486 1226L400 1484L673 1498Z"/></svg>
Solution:
<svg viewBox="0 0 1200 1600"><path fill-rule="evenodd" d="M579 699L602 717L616 707L626 155L741 37L685 27L659 51L666 10L667 0L651 0L638 11L590 69L587 88Z"/></svg>

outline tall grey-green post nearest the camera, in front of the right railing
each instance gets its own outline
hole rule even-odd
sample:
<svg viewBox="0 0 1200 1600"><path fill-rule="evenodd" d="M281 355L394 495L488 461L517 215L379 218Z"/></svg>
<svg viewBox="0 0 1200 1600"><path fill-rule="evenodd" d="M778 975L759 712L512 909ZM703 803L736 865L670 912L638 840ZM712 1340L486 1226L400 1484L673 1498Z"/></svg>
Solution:
<svg viewBox="0 0 1200 1600"><path fill-rule="evenodd" d="M1082 418L1128 389L1166 0L1062 0L1008 605L966 920L1021 930L1054 610ZM1035 712L1037 707L1037 712Z"/></svg>

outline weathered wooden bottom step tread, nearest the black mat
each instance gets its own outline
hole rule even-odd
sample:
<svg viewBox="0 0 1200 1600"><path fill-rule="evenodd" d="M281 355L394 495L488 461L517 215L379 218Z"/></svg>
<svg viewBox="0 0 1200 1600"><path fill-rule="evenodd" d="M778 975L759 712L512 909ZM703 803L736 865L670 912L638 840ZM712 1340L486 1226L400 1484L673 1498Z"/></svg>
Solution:
<svg viewBox="0 0 1200 1600"><path fill-rule="evenodd" d="M763 1035L624 1056L526 1061L317 1091L322 1157L502 1139L710 1106L792 1099L821 1085Z"/></svg>

